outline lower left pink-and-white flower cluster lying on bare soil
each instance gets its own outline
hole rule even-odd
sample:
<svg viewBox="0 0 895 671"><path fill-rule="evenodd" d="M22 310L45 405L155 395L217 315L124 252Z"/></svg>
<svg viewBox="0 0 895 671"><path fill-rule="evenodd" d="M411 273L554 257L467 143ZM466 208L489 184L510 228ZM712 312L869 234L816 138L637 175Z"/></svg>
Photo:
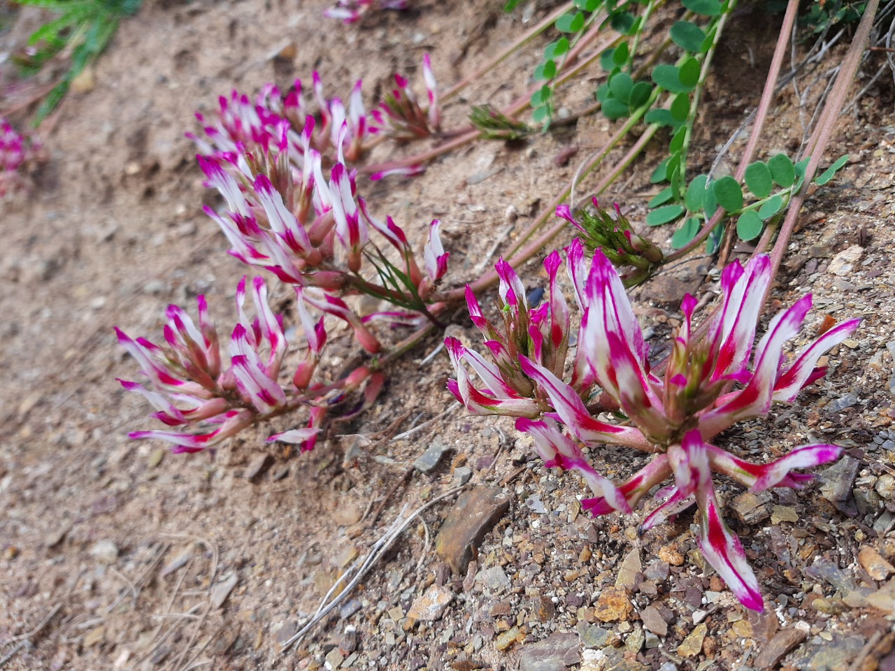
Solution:
<svg viewBox="0 0 895 671"><path fill-rule="evenodd" d="M245 310L247 280L236 288L238 320L230 335L229 363L218 343L217 330L209 320L204 296L199 296L198 325L182 308L169 305L164 328L165 345L146 338L132 338L116 328L118 342L140 365L150 388L119 379L128 391L146 398L156 409L152 417L180 430L133 431L132 438L158 438L174 444L173 452L198 452L261 420L275 417L298 405L311 408L309 426L275 434L268 440L282 440L313 448L328 408L349 391L366 385L381 386L370 369L362 367L339 385L313 382L320 352L327 341L323 318L313 319L309 306L320 301L295 287L296 311L303 328L307 350L292 377L281 382L286 335L282 315L274 315L268 305L268 288L261 277L251 282L255 318ZM217 427L212 429L212 427Z"/></svg>

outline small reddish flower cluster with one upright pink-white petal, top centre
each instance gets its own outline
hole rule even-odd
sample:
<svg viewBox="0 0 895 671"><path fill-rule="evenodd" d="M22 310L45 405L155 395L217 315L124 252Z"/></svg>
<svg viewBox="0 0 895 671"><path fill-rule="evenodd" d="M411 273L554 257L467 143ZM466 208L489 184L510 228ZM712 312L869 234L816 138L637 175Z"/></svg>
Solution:
<svg viewBox="0 0 895 671"><path fill-rule="evenodd" d="M387 93L379 107L370 115L376 122L371 132L388 132L396 140L426 138L441 129L438 84L432 73L429 54L422 56L422 79L426 86L429 103L423 109L417 101L409 82L400 74L395 75L396 88Z"/></svg>

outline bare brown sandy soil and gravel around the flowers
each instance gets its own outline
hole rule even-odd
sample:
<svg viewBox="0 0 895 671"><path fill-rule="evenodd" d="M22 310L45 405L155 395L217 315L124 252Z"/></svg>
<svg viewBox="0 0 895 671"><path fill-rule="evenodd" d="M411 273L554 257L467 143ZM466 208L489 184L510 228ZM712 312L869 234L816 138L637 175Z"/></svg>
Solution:
<svg viewBox="0 0 895 671"><path fill-rule="evenodd" d="M112 327L155 337L164 306L187 305L198 293L209 297L219 323L229 323L235 283L245 271L201 213L213 198L183 138L195 130L193 111L209 109L233 87L249 93L267 81L285 87L314 69L330 95L345 96L362 78L369 104L391 72L418 75L424 51L432 53L439 81L450 83L524 30L519 13L507 16L500 3L484 0L423 2L411 13L381 13L351 27L323 19L324 6L149 0L99 60L95 87L64 103L45 138L49 160L33 175L33 189L4 203L0 659L6 667L497 669L525 665L526 650L546 640L574 649L570 664L592 671L704 671L751 667L775 633L797 630L805 636L782 662L791 668L870 669L881 659L879 667L890 668L885 655L895 605L889 596L886 607L884 586L891 566L871 564L865 548L881 559L895 556L891 83L871 91L840 123L830 156L848 153L852 161L810 201L774 293L788 305L813 292L811 328L824 314L865 322L854 341L831 352L830 374L796 406L724 437L742 454L837 442L848 448L845 471L853 467L851 480L848 472L830 471L820 485L775 491L747 514L729 514L769 599L764 616L747 614L703 567L692 516L638 539L636 516L594 521L579 514L583 490L574 478L544 471L509 421L469 417L453 403L444 388L447 357L422 361L435 338L397 367L370 412L311 454L264 445L270 429L297 421L286 418L208 454L166 454L164 446L126 437L149 428L150 420L115 383L132 378L135 367ZM771 28L758 30L747 15L739 21L732 34L755 37L732 39L720 51L695 138L697 167L711 162L760 93ZM290 45L297 47L294 57L275 57ZM750 51L757 55L754 69ZM447 106L446 125L462 124L469 103L506 104L521 95L536 59L534 49L526 50L475 81ZM567 91L563 104L583 106L593 81ZM794 149L802 132L790 91L775 122L765 147ZM460 284L499 235L513 240L609 131L605 120L584 118L521 144L480 142L440 159L420 178L364 191L376 212L395 216L417 240L432 217L441 218L452 253L447 281ZM554 159L570 146L577 156L557 166ZM660 149L651 149L635 176L609 194L635 222L652 195L642 177ZM382 145L371 160L401 151ZM508 208L518 213L514 227ZM669 234L659 231L660 242ZM857 262L840 273L838 255L856 245L849 253ZM711 262L703 259L705 268ZM654 346L678 313L652 299L669 277L693 281L681 273L660 276L635 294ZM523 274L526 285L542 284L534 264ZM711 279L696 280L695 291L711 287ZM277 290L273 303L286 305L287 294ZM462 314L455 321L473 336ZM345 334L336 340L349 357L351 341ZM374 436L408 410L396 430L437 419L403 439ZM436 440L450 446L451 459L431 475L408 475L409 464ZM273 463L247 478L263 454ZM592 458L617 477L637 466L614 451ZM450 488L464 459L473 483L503 488L512 500L471 573L451 575L432 553L429 539L452 505L447 499L396 541L355 591L356 608L345 616L336 611L281 657L278 644L316 610L338 572L366 553L405 505L412 510ZM823 488L843 480L842 500L827 500ZM728 503L746 509L736 487L723 489ZM635 609L624 621L602 621L594 607L601 593L615 589L623 563L635 576L621 585ZM451 591L451 605L434 622L408 622L408 609L432 584ZM864 600L871 593L879 597L877 608ZM662 636L656 624L646 626L649 607L667 625ZM504 634L514 627L507 643ZM561 633L572 638L550 638Z"/></svg>

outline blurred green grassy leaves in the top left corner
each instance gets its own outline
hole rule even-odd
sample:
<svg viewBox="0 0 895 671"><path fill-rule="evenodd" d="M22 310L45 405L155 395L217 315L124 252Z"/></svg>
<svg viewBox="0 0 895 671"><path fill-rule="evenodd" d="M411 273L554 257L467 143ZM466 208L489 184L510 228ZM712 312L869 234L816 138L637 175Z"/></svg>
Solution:
<svg viewBox="0 0 895 671"><path fill-rule="evenodd" d="M43 121L64 98L72 81L96 59L115 35L118 21L140 9L142 0L19 0L19 4L58 13L53 21L35 30L28 41L37 47L33 55L17 56L16 63L26 75L37 73L63 50L70 52L70 67L62 80L38 106L34 123Z"/></svg>

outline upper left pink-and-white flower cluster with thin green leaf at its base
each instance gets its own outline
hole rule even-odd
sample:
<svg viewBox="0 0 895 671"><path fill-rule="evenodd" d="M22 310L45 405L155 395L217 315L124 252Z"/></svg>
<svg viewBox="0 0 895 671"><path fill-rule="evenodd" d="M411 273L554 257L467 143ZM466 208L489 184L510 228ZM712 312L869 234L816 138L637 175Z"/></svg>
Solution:
<svg viewBox="0 0 895 671"><path fill-rule="evenodd" d="M345 124L342 128L345 132ZM205 211L226 235L236 259L265 268L288 284L319 289L323 293L315 304L320 310L345 319L361 344L378 352L375 336L340 295L367 293L408 310L388 312L393 321L424 319L447 273L449 254L439 238L439 221L429 227L421 270L401 227L391 217L385 222L373 217L357 195L354 173L339 162L327 180L320 153L309 146L310 132L303 133L303 142L300 169L290 168L278 148L260 156L247 151L200 156L207 185L227 204L224 212ZM395 252L380 248L374 236ZM362 274L365 260L381 283Z"/></svg>

